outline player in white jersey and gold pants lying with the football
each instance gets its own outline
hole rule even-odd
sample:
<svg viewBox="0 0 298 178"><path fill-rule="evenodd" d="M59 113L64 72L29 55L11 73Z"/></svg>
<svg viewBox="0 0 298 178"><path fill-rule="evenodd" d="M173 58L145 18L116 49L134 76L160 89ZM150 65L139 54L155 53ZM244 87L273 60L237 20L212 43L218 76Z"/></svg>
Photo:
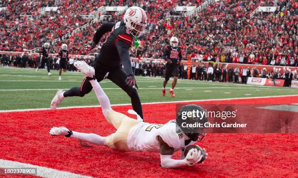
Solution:
<svg viewBox="0 0 298 178"><path fill-rule="evenodd" d="M188 132L187 134L176 124L176 120L170 120L166 124L152 124L143 122L141 117L133 110L129 110L128 112L135 114L137 119L132 119L122 113L118 113L112 110L109 98L96 79L94 79L93 67L84 61L80 61L80 64L77 64L76 67L86 76L86 79L89 79L105 118L117 131L109 136L102 137L96 134L71 131L65 127L53 127L50 130L51 135L77 138L96 145L108 146L119 151L160 152L161 165L165 168L177 168L185 165L192 166L201 161L203 154L197 149L191 149L187 152L186 158L183 151L181 151L180 159L172 159L171 157L175 151L194 144L196 141L200 141L205 136L204 129L201 129L198 133L189 134ZM204 111L203 108L197 105L191 106L192 108ZM178 116L181 114L183 108L178 112ZM201 121L206 122L207 118L201 119ZM203 150L205 152L205 148ZM207 153L205 153L205 158L206 156Z"/></svg>

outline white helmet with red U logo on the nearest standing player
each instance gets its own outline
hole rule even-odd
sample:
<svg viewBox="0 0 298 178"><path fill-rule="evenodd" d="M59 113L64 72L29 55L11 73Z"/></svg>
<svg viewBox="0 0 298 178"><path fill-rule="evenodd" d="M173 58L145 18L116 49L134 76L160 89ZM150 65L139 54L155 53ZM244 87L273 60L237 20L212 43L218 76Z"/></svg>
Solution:
<svg viewBox="0 0 298 178"><path fill-rule="evenodd" d="M132 6L128 8L123 19L126 28L133 36L139 37L145 32L147 27L147 15L141 7Z"/></svg>

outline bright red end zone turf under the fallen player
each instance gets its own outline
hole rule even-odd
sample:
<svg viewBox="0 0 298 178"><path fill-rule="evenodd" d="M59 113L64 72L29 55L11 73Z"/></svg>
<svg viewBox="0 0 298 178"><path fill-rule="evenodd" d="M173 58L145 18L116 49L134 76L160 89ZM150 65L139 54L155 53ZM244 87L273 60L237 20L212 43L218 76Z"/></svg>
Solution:
<svg viewBox="0 0 298 178"><path fill-rule="evenodd" d="M202 103L298 103L298 97L230 99ZM143 105L145 121L165 123L175 117L175 103ZM126 113L131 106L114 106ZM294 113L293 114L297 114ZM115 129L101 108L0 113L0 159L50 167L100 178L297 178L298 134L208 134L201 147L209 156L204 164L164 169L158 153L121 153L102 146L82 147L72 138L52 137L52 126L102 136ZM178 158L178 153L174 155ZM1 167L1 166L0 166ZM38 171L38 170L37 170ZM1 177L1 176L0 176ZM4 177L4 176L2 176ZM14 176L18 177L18 176ZM29 176L31 177L31 176Z"/></svg>

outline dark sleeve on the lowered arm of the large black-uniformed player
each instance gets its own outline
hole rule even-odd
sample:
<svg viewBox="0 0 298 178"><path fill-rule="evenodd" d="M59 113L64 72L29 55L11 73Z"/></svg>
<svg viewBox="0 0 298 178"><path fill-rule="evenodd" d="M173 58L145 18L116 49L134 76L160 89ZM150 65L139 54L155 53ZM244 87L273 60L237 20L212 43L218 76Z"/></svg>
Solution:
<svg viewBox="0 0 298 178"><path fill-rule="evenodd" d="M131 68L131 62L130 62L130 53L129 53L130 45L124 41L117 40L116 47L126 73L129 76L134 76Z"/></svg>

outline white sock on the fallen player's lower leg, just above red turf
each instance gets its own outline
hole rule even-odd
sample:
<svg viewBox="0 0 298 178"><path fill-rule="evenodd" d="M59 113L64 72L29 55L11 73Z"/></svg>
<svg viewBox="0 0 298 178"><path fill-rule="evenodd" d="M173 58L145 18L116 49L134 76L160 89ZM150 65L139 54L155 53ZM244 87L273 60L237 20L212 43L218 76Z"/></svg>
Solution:
<svg viewBox="0 0 298 178"><path fill-rule="evenodd" d="M85 133L79 133L79 132L74 132L70 136L71 138L76 138L84 141L88 141L90 143L93 143L95 145L104 145L106 146L106 141L105 137L101 137L96 134L85 134Z"/></svg>

